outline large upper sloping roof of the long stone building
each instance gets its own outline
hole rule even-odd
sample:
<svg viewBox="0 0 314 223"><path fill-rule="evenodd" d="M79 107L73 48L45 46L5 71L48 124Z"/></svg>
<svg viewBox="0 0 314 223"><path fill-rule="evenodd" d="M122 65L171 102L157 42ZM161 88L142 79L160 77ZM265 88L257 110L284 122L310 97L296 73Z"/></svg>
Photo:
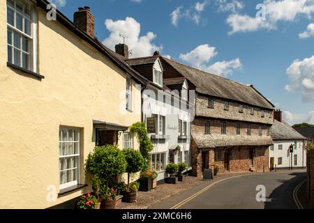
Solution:
<svg viewBox="0 0 314 223"><path fill-rule="evenodd" d="M274 109L274 105L264 98L252 85L239 84L225 77L186 66L172 59L162 57L172 68L186 77L196 86L196 91L205 95L244 102L266 109Z"/></svg>

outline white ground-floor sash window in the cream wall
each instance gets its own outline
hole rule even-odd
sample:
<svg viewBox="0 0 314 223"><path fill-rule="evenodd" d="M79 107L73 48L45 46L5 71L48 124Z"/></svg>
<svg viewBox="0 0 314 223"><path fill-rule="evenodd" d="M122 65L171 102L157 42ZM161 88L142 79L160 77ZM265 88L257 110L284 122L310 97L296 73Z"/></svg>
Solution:
<svg viewBox="0 0 314 223"><path fill-rule="evenodd" d="M59 130L60 190L80 183L80 129Z"/></svg>

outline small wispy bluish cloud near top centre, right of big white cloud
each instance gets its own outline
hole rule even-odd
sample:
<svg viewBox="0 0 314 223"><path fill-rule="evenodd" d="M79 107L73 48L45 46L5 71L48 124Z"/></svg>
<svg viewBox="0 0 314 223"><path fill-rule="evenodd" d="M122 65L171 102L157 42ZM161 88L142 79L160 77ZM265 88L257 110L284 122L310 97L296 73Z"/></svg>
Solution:
<svg viewBox="0 0 314 223"><path fill-rule="evenodd" d="M182 6L177 7L172 13L170 13L171 23L174 26L178 26L179 20L185 18L186 20L191 20L195 24L200 24L202 20L202 12L207 6L208 1L204 1L202 3L197 2L194 6L190 6L190 8L183 10ZM203 20L204 22L206 20Z"/></svg>

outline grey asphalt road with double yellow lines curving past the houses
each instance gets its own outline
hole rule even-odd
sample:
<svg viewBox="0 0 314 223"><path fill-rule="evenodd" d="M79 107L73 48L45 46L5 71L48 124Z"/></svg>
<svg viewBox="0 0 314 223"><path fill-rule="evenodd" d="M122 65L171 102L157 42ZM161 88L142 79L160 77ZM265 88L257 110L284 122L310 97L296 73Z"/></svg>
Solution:
<svg viewBox="0 0 314 223"><path fill-rule="evenodd" d="M150 209L297 209L293 194L305 179L304 170L222 176L204 181ZM259 185L265 189L264 196L258 196L264 201L256 199Z"/></svg>

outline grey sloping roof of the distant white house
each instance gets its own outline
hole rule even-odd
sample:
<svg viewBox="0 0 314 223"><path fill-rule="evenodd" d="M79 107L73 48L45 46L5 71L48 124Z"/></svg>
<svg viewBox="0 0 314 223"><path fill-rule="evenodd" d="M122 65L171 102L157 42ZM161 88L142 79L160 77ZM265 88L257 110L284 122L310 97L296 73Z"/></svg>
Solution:
<svg viewBox="0 0 314 223"><path fill-rule="evenodd" d="M314 134L314 130L313 130ZM274 125L271 127L271 137L273 140L305 140L306 138L299 134L294 128L287 123L277 121L275 119Z"/></svg>

